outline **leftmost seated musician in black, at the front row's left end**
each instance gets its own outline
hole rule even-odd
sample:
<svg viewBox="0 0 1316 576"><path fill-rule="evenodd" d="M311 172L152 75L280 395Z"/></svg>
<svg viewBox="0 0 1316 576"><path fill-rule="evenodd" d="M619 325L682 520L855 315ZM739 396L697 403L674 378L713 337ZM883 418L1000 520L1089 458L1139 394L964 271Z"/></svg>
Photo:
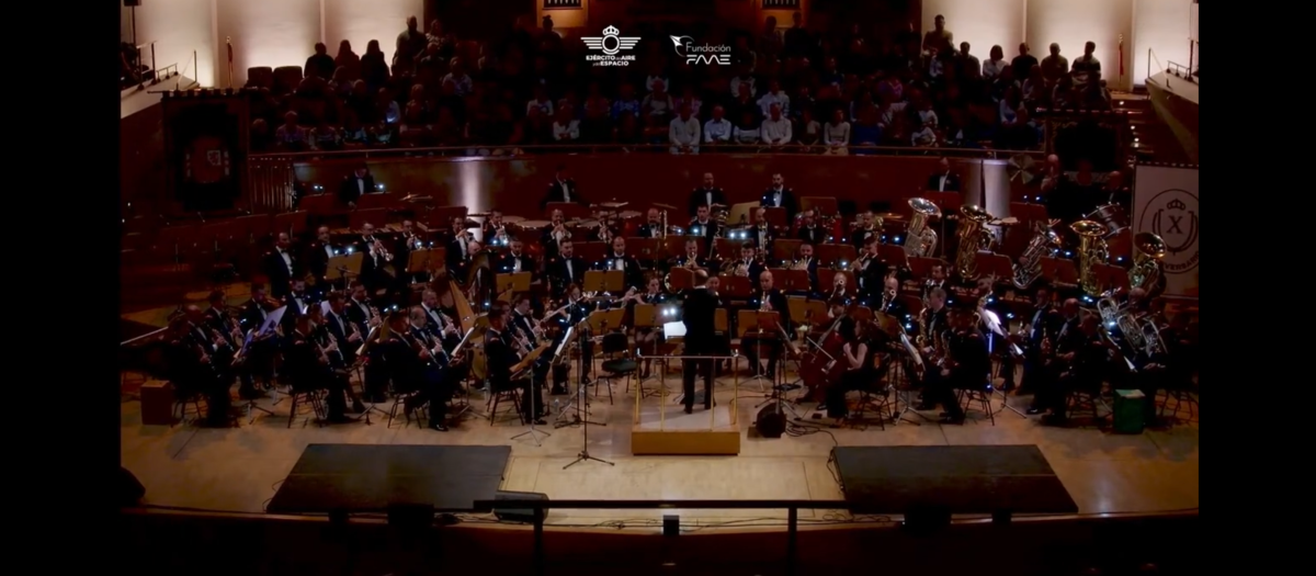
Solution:
<svg viewBox="0 0 1316 576"><path fill-rule="evenodd" d="M216 359L205 351L213 342L207 338L197 342L187 318L174 318L164 337L164 366L170 383L179 398L192 395L205 396L205 425L224 427L229 425L229 387L216 375Z"/></svg>

